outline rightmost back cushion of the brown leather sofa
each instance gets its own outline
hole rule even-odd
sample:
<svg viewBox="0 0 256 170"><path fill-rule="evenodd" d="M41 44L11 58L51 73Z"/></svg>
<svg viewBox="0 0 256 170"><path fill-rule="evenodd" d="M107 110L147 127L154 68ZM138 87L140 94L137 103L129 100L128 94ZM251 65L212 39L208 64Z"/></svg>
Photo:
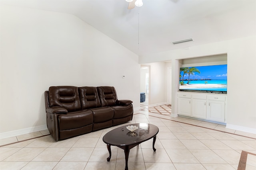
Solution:
<svg viewBox="0 0 256 170"><path fill-rule="evenodd" d="M102 107L115 106L117 95L116 95L116 89L114 87L100 86L100 87L97 87L97 90L100 98L100 104Z"/></svg>

